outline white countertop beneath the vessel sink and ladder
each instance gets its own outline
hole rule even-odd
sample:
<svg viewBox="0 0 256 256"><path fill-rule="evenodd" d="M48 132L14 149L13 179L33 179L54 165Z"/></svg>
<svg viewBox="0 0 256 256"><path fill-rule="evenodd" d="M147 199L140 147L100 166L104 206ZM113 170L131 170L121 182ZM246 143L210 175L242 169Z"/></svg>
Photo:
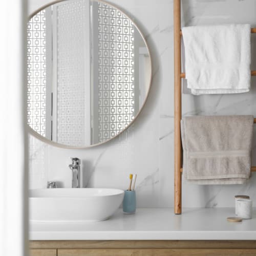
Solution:
<svg viewBox="0 0 256 256"><path fill-rule="evenodd" d="M253 218L232 223L234 208L139 208L134 215L118 209L100 222L30 222L30 240L256 240Z"/></svg>

